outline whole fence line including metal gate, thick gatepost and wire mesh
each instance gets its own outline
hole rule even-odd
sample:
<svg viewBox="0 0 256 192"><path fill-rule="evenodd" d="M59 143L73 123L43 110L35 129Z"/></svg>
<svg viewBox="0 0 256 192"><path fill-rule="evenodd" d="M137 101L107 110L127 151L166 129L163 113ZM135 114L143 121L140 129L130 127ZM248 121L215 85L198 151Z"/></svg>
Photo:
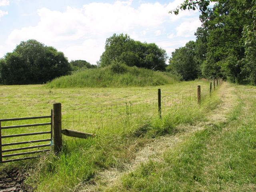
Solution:
<svg viewBox="0 0 256 192"><path fill-rule="evenodd" d="M222 81L221 80L219 80L219 81L220 81L219 85L221 85ZM212 83L210 83L210 85L211 84ZM136 100L136 101L134 101L134 103L132 103L131 101L117 103L117 99L116 99L111 104L106 104L106 102L94 103L94 104L92 104L92 107L86 107L86 108L80 108L77 110L72 110L73 120L71 120L71 122L72 123L77 122L77 118L78 118L78 125L80 126L80 119L83 119L81 126L84 126L84 123L85 123L85 124L90 124L91 127L93 127L93 125L94 125L94 129L96 129L98 127L103 129L103 127L105 126L104 124L107 124L107 123L111 123L113 128L114 128L114 125L118 125L120 123L123 123L125 125L127 124L130 126L132 120L134 120L136 118L141 118L142 116L147 117L147 118L152 118L153 116L155 116L155 117L158 116L159 118L162 118L162 109L164 109L164 111L167 111L168 109L175 108L176 106L194 107L196 105L196 95L198 98L198 100L197 100L198 104L200 104L201 101L204 100L204 98L206 96L211 95L211 90L212 90L211 86L210 86L210 90L208 88L200 89L200 86L198 86L198 88L199 88L198 89L199 91L197 92L197 94L195 92L192 92L192 90L190 90L188 93L184 93L184 94L178 93L178 94L174 94L172 96L161 97L161 90L158 89L158 97L154 98L154 99L147 99L146 101L145 100ZM168 92L163 92L163 93L166 94ZM120 99L119 99L119 101L120 101ZM102 103L104 105L96 106L96 104L100 104L100 103ZM56 107L57 105L60 105L60 107ZM142 111L141 106L144 106L144 108L143 108L144 111ZM74 117L75 117L76 112L79 112L79 115L78 115L78 117L76 115L76 120L75 120ZM5 161L3 161L2 158L27 155L27 154L35 154L35 153L46 152L46 151L50 150L50 149L37 150L37 151L22 152L22 153L17 153L17 154L2 155L2 153L5 153L5 152L13 152L13 151L17 151L17 150L27 150L27 149L47 147L47 146L50 146L50 144L43 144L43 145L38 145L38 146L29 146L29 147L23 147L23 148L15 148L15 149L7 149L7 150L2 150L3 146L12 146L12 145L20 145L20 144L28 144L28 143L36 143L36 142L46 142L46 141L52 141L52 139L53 139L54 152L58 153L61 150L61 146L62 146L62 131L61 131L62 130L62 128L61 128L62 127L62 125L61 125L62 119L61 119L61 116L62 116L61 104L57 103L57 104L54 104L54 106L53 106L51 116L41 116L41 117L31 117L31 118L12 118L12 119L0 120L0 163L30 159L30 158L34 158L37 156L5 160ZM68 120L69 120L68 115L64 114L64 117L65 116L66 116L66 118L64 118L63 122L66 127L70 128L70 126L67 125ZM51 122L40 123L40 124L25 124L25 125L2 126L1 127L1 122L5 122L5 121L32 120L32 119L42 119L42 118L51 118ZM116 119L116 122L114 122L113 119ZM106 120L108 120L110 122L108 122L108 121L106 122ZM136 121L136 120L134 120L134 121ZM60 122L60 123L58 123L58 122ZM2 130L5 130L5 129L34 127L34 126L47 126L47 125L51 125L51 131L2 136ZM76 127L77 127L77 125L76 125ZM53 134L52 130L54 130L54 134ZM32 136L32 135L41 135L41 134L51 134L51 138L50 139L42 139L42 140L33 140L33 141L2 144L3 138L13 138L13 137ZM93 134L91 134L91 135L93 135Z"/></svg>

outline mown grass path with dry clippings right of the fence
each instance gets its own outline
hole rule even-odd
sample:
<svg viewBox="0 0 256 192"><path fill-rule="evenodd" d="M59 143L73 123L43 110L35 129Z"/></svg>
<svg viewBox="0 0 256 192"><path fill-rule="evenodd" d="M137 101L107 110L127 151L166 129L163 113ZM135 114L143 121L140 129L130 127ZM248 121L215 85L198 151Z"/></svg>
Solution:
<svg viewBox="0 0 256 192"><path fill-rule="evenodd" d="M84 191L255 191L256 89L220 89L208 120L152 139L124 170L99 172Z"/></svg>

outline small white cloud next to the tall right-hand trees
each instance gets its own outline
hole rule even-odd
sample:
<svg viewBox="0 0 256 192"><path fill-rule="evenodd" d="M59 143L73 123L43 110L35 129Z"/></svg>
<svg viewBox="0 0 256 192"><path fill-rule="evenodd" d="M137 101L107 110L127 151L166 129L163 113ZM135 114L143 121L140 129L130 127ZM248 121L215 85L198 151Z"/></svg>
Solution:
<svg viewBox="0 0 256 192"><path fill-rule="evenodd" d="M196 29L201 26L200 20L196 19L192 22L185 21L176 27L177 36L190 37L193 36L193 32L196 32Z"/></svg>

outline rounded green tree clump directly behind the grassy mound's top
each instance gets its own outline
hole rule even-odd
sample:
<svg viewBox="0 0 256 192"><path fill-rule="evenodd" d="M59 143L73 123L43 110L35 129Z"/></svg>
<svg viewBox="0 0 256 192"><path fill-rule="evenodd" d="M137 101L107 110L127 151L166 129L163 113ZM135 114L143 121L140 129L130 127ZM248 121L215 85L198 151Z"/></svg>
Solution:
<svg viewBox="0 0 256 192"><path fill-rule="evenodd" d="M106 40L105 51L100 56L100 66L121 62L127 66L164 71L166 59L166 51L154 43L134 41L127 34L114 34Z"/></svg>

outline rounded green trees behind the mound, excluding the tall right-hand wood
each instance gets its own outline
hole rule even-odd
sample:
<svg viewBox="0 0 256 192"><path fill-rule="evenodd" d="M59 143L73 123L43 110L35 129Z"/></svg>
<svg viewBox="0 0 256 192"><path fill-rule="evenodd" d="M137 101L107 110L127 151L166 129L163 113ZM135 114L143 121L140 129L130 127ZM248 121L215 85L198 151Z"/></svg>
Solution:
<svg viewBox="0 0 256 192"><path fill-rule="evenodd" d="M151 70L165 70L166 51L154 43L142 43L127 34L107 38L105 51L98 65L85 60L71 60L51 46L36 40L20 42L13 52L0 59L1 84L40 84L79 70L122 64Z"/></svg>

